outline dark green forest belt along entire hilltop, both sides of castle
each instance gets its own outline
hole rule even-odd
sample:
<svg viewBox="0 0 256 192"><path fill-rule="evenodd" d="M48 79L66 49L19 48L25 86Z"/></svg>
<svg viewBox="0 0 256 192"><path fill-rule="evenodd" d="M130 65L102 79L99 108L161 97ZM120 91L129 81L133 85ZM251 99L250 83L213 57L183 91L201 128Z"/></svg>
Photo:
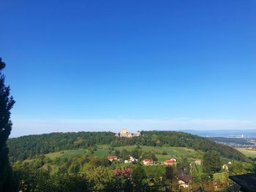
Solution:
<svg viewBox="0 0 256 192"><path fill-rule="evenodd" d="M112 132L78 132L29 135L9 139L10 160L24 160L34 155L110 144L113 147L125 145L188 147L203 152L216 150L225 158L245 160L244 154L226 145L209 139L177 131L142 131L140 137L119 138Z"/></svg>

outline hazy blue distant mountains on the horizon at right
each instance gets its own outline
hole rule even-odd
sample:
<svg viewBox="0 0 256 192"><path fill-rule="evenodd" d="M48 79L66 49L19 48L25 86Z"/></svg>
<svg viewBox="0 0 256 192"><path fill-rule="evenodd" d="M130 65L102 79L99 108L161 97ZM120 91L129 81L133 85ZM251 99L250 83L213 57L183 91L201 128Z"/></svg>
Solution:
<svg viewBox="0 0 256 192"><path fill-rule="evenodd" d="M244 129L244 130L181 130L188 134L195 134L200 137L230 137L230 138L250 138L256 137L256 129Z"/></svg>

